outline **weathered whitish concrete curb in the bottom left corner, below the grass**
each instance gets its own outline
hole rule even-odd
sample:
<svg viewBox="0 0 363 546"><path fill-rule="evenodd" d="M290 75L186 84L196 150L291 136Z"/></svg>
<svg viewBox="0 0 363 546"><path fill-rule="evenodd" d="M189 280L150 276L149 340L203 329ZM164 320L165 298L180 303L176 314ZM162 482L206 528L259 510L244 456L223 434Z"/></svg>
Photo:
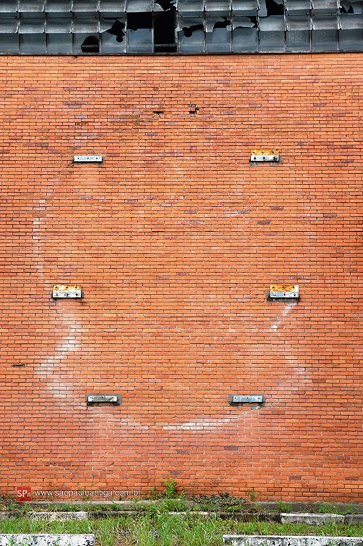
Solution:
<svg viewBox="0 0 363 546"><path fill-rule="evenodd" d="M0 546L94 546L95 535L0 535Z"/></svg>

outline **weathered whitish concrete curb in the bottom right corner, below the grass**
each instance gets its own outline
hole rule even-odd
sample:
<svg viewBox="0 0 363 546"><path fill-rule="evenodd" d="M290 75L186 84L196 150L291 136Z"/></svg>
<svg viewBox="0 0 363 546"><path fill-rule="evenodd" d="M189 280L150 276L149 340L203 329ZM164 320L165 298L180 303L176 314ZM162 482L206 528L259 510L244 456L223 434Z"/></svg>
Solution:
<svg viewBox="0 0 363 546"><path fill-rule="evenodd" d="M363 537L224 535L231 546L363 546Z"/></svg>

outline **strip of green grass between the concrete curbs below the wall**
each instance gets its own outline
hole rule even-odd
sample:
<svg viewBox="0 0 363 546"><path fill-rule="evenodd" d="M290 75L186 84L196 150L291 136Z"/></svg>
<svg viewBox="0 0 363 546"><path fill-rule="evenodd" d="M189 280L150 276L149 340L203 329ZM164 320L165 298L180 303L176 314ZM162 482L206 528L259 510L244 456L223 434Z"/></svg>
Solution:
<svg viewBox="0 0 363 546"><path fill-rule="evenodd" d="M0 520L0 533L94 533L97 546L222 546L224 534L325 535L363 537L363 525L280 524L221 520L197 512L171 515L150 506L134 518L120 516L99 520L37 521L26 517Z"/></svg>

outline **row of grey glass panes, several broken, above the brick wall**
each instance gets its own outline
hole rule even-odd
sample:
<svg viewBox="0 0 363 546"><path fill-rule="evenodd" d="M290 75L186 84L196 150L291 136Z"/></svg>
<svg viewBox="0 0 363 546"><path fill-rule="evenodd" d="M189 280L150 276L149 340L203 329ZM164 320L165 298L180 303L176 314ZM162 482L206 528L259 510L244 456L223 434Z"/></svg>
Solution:
<svg viewBox="0 0 363 546"><path fill-rule="evenodd" d="M363 51L363 0L340 1L0 0L0 53Z"/></svg>

